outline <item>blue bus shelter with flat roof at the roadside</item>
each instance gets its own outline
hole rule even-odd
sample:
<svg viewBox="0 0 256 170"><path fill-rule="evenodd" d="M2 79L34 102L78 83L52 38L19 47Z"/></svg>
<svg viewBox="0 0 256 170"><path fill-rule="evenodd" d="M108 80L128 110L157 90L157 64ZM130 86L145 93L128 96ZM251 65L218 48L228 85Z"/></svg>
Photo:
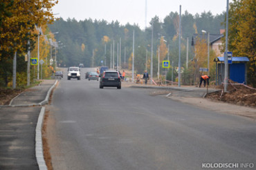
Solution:
<svg viewBox="0 0 256 170"><path fill-rule="evenodd" d="M228 77L234 82L247 84L247 62L248 57L232 57L232 64L228 64ZM216 57L216 82L220 85L224 82L225 64L224 57Z"/></svg>

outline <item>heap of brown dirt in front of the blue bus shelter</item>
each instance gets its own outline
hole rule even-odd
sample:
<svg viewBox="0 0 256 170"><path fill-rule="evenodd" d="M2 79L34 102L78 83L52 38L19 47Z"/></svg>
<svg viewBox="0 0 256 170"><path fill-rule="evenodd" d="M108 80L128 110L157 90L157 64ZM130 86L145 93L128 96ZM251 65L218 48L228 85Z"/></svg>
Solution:
<svg viewBox="0 0 256 170"><path fill-rule="evenodd" d="M206 97L212 100L219 100L222 102L228 102L237 104L240 106L256 107L256 89L246 86L244 84L237 84L231 82L228 84L228 93L222 91L216 93L210 93Z"/></svg>

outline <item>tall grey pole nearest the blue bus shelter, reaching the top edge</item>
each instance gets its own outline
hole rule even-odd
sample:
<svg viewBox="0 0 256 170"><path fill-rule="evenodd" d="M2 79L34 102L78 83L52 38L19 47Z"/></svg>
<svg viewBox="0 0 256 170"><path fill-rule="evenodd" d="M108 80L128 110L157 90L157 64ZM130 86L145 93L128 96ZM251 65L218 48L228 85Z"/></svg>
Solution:
<svg viewBox="0 0 256 170"><path fill-rule="evenodd" d="M225 79L224 79L224 92L228 91L228 0L227 0L227 10L226 10L226 53L224 57L225 62Z"/></svg>

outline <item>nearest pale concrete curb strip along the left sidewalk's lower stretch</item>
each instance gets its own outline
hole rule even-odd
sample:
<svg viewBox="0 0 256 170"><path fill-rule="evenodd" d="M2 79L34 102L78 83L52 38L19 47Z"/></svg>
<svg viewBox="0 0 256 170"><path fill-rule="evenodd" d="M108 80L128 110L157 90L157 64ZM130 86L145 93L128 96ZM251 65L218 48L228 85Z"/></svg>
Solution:
<svg viewBox="0 0 256 170"><path fill-rule="evenodd" d="M43 106L38 120L37 127L35 129L35 157L37 158L37 164L40 170L47 170L46 162L44 161L44 149L42 141L42 126L44 124L45 107Z"/></svg>

